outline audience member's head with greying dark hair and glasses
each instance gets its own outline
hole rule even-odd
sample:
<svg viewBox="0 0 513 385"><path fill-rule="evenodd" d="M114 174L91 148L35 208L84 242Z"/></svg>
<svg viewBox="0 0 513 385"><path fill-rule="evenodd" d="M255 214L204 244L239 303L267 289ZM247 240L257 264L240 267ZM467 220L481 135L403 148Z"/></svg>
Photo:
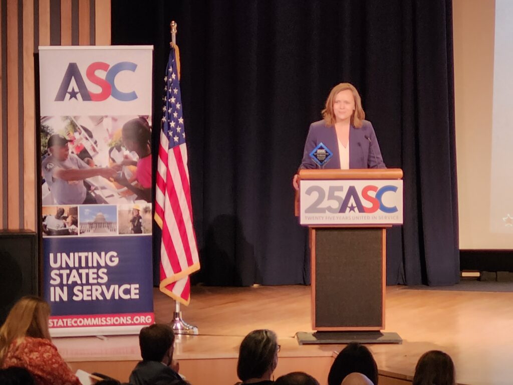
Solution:
<svg viewBox="0 0 513 385"><path fill-rule="evenodd" d="M237 375L241 381L268 380L278 364L278 340L271 330L253 330L241 342Z"/></svg>

